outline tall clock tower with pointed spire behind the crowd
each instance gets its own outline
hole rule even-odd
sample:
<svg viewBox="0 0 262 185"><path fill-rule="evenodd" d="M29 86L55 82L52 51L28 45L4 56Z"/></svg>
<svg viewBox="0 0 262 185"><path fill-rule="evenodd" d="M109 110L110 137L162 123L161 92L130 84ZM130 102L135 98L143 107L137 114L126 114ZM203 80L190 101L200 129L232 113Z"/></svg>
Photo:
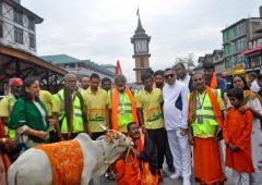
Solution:
<svg viewBox="0 0 262 185"><path fill-rule="evenodd" d="M139 15L139 14L138 14ZM145 29L142 27L140 15L138 21L138 27L134 32L131 42L134 48L134 72L135 72L135 84L138 86L142 85L141 74L150 67L150 40L151 37L145 34Z"/></svg>

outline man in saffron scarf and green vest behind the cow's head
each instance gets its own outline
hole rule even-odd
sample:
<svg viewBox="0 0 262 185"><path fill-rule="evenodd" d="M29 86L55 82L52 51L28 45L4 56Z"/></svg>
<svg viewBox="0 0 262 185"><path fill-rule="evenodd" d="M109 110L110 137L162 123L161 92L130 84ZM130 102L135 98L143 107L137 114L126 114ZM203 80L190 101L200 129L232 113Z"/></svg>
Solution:
<svg viewBox="0 0 262 185"><path fill-rule="evenodd" d="M127 124L138 123L136 106L131 90L127 87L126 76L117 75L115 85L116 87L109 92L110 128L127 134Z"/></svg>

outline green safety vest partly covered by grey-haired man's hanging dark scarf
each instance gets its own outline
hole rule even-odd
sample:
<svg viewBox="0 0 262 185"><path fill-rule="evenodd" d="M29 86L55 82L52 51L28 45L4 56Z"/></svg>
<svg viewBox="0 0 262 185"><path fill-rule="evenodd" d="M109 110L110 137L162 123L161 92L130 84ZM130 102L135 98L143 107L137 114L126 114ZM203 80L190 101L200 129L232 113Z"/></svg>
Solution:
<svg viewBox="0 0 262 185"><path fill-rule="evenodd" d="M68 133L68 123L67 123L67 119L66 119L66 112L64 112L64 95L63 95L63 89L60 90L57 94L61 106L62 106L62 110L59 116L59 121L62 122L61 125L61 133ZM73 99L73 133L82 133L84 132L84 122L83 122L83 118L82 118L82 109L81 109L81 103L80 103L80 99L78 96L74 97Z"/></svg>

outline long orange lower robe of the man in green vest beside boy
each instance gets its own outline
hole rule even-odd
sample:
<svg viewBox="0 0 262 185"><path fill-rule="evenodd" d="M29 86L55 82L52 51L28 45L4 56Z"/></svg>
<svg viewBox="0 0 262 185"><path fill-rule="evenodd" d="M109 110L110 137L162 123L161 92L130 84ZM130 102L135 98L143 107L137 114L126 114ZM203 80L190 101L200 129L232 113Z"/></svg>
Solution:
<svg viewBox="0 0 262 185"><path fill-rule="evenodd" d="M214 138L194 137L193 146L194 176L203 184L224 181L218 141Z"/></svg>

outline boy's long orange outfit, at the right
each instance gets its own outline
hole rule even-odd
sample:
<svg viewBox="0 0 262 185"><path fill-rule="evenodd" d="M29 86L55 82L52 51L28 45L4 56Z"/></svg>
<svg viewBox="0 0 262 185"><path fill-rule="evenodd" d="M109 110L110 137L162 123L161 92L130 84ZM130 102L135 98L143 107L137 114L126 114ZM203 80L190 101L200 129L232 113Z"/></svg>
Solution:
<svg viewBox="0 0 262 185"><path fill-rule="evenodd" d="M251 159L252 113L247 110L240 113L230 109L226 113L223 136L225 144L231 143L239 149L233 151L226 147L226 165L238 172L252 173L254 171Z"/></svg>

